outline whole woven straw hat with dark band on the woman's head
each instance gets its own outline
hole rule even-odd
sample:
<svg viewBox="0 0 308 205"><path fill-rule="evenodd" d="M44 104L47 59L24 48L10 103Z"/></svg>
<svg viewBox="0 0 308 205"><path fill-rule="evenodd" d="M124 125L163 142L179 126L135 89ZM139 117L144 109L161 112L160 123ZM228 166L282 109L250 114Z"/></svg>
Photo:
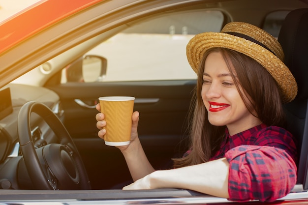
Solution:
<svg viewBox="0 0 308 205"><path fill-rule="evenodd" d="M198 69L204 53L215 47L227 48L249 56L265 67L277 81L282 101L292 101L297 94L296 81L283 63L284 54L277 39L256 26L231 22L219 33L206 32L195 35L187 44L186 55L192 69Z"/></svg>

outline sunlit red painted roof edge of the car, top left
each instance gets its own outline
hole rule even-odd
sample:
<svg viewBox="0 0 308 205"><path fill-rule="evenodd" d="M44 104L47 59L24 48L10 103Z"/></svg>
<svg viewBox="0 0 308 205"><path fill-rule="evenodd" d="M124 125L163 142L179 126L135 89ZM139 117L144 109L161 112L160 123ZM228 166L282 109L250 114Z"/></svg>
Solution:
<svg viewBox="0 0 308 205"><path fill-rule="evenodd" d="M0 53L53 23L102 0L41 0L0 23ZM60 6L61 5L61 6ZM51 10L52 12L46 12ZM20 25L27 25L26 27Z"/></svg>

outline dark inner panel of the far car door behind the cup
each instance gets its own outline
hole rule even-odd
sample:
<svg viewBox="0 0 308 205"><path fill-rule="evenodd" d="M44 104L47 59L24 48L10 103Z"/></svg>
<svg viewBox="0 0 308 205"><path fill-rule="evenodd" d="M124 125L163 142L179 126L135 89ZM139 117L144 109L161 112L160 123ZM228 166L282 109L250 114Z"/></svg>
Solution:
<svg viewBox="0 0 308 205"><path fill-rule="evenodd" d="M97 137L93 108L100 96L134 96L134 111L140 113L138 135L155 169L172 167L171 158L186 149L187 116L194 80L66 83L49 87L57 92L64 110L64 125L83 157L94 189L122 188L131 180L119 149L104 145ZM92 108L76 103L76 99ZM182 152L181 152L181 151Z"/></svg>

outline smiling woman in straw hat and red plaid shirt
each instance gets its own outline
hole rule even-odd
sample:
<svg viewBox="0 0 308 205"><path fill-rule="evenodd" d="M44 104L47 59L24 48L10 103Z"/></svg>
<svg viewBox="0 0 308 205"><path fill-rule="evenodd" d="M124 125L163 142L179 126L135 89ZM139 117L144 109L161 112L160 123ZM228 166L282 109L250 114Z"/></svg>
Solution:
<svg viewBox="0 0 308 205"><path fill-rule="evenodd" d="M253 25L232 22L194 36L186 48L197 73L190 149L172 170L155 171L138 139L119 146L134 183L123 189L184 188L233 201L274 201L296 183L296 147L283 127L282 103L297 94L277 40ZM100 106L96 109L99 111ZM97 114L98 136L106 125Z"/></svg>

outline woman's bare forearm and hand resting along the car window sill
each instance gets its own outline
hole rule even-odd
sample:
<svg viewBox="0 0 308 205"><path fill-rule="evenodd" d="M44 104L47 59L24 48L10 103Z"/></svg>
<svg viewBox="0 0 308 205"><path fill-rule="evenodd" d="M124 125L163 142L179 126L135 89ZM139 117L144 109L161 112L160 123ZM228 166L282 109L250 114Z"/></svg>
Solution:
<svg viewBox="0 0 308 205"><path fill-rule="evenodd" d="M155 171L123 189L183 188L229 198L226 158L173 170Z"/></svg>

